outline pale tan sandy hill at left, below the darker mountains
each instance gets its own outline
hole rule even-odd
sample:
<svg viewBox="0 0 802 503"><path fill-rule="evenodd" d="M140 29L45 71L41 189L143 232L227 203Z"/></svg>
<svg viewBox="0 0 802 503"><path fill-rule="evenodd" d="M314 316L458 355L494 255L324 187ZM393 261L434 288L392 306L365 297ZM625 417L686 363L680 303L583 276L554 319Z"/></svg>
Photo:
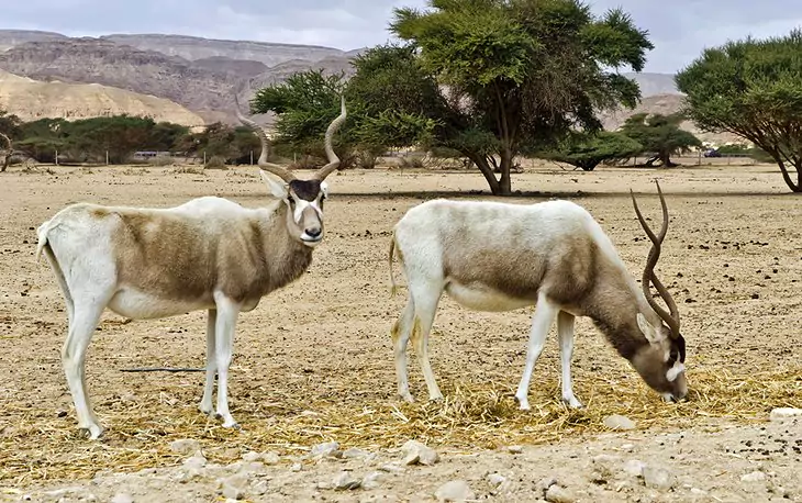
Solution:
<svg viewBox="0 0 802 503"><path fill-rule="evenodd" d="M163 98L97 83L42 82L2 70L0 109L16 114L23 121L42 118L76 120L127 113L190 127L203 124L199 115Z"/></svg>

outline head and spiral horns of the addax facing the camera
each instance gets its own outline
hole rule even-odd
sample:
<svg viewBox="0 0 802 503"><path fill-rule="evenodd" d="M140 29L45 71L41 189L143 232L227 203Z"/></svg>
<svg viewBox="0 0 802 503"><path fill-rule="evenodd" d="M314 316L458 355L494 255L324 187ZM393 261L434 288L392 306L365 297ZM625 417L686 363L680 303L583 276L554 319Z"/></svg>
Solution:
<svg viewBox="0 0 802 503"><path fill-rule="evenodd" d="M302 180L288 169L267 161L270 148L267 134L258 124L240 113L237 103L237 118L243 124L254 130L261 142L261 154L258 161L261 168L259 170L261 179L267 183L270 194L287 204L287 228L290 235L309 247L316 246L323 239L323 201L328 194L328 185L325 179L339 167L339 158L334 154L332 147L332 137L345 122L345 98L342 98L341 113L328 124L325 135L328 164L319 169L309 180Z"/></svg>

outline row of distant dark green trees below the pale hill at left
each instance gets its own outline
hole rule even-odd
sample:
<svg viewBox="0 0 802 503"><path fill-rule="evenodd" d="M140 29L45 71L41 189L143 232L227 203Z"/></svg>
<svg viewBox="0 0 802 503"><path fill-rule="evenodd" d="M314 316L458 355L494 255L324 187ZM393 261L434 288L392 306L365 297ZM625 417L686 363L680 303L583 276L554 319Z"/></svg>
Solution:
<svg viewBox="0 0 802 503"><path fill-rule="evenodd" d="M67 121L40 119L23 122L0 111L0 133L13 143L14 153L40 163L59 159L74 163L129 163L136 152L169 152L185 157L221 158L225 163L248 163L258 155L258 138L247 127L210 124L193 133L170 122L131 115Z"/></svg>

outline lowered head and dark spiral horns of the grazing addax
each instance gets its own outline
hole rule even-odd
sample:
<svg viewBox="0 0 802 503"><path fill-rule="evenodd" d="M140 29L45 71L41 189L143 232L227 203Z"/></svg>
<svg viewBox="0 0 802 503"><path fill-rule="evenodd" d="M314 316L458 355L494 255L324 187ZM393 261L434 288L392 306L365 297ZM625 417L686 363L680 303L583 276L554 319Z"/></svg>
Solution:
<svg viewBox="0 0 802 503"><path fill-rule="evenodd" d="M632 191L630 192L632 193ZM646 260L641 283L646 301L657 314L657 318L637 313L637 325L648 344L635 353L631 361L644 381L660 393L664 400L667 402L678 402L688 394L684 368L686 339L679 331L679 310L677 309L677 303L657 278L657 275L655 275L655 266L660 258L660 246L668 231L668 208L666 206L666 199L662 197L659 183L657 183L657 192L660 195L660 204L662 205L662 228L660 228L659 235L655 235L646 224L646 220L637 208L635 194L632 194L632 202L635 206L637 219L646 235L651 241L651 249ZM654 284L660 298L666 302L668 312L651 295L650 284Z"/></svg>

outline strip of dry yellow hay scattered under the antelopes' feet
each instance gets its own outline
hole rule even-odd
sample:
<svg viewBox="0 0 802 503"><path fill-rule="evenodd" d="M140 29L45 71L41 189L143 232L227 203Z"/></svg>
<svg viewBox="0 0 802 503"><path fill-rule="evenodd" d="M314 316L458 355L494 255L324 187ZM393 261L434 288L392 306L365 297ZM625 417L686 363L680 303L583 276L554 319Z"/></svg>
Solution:
<svg viewBox="0 0 802 503"><path fill-rule="evenodd" d="M232 462L247 450L299 454L327 440L393 448L416 438L430 446L476 450L602 433L603 418L610 414L628 416L639 429L659 431L698 426L700 420L710 418L756 423L766 421L773 407L802 406L802 367L735 375L701 366L691 372L689 400L679 404L664 403L631 372L623 381L597 376L577 383L586 404L582 410L569 410L556 399L555 380L535 383L530 412L517 410L514 388L498 382L450 388L446 383L441 403L388 401L361 406L337 400L339 393L348 393L346 389L334 390L331 400L307 403L297 390L277 387L269 413L264 412L264 402L236 402L233 413L244 423L242 431L225 429L203 416L194 401L176 403L169 414L159 416L147 405L116 401L104 403L100 411L100 421L109 428L101 441L80 437L74 411L44 415L10 405L7 412L23 420L7 426L0 438L0 487L176 465L179 456L169 444L179 438L199 439L204 455L218 462Z"/></svg>

